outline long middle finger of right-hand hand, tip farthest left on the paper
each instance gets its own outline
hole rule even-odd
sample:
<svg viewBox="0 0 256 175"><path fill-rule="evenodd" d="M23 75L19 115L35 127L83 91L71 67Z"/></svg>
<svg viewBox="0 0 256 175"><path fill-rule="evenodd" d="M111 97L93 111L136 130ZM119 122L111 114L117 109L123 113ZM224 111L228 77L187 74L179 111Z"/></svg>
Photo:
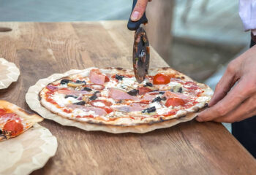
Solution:
<svg viewBox="0 0 256 175"><path fill-rule="evenodd" d="M200 112L197 121L210 121L217 117L223 117L240 105L246 98L255 93L255 85L247 78L241 79L240 82L232 89L227 96L214 106Z"/></svg>

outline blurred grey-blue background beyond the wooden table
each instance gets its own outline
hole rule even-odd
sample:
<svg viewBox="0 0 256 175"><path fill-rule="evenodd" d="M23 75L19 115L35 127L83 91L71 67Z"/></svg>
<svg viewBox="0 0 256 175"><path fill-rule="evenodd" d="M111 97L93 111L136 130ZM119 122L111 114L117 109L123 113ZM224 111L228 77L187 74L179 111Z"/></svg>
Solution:
<svg viewBox="0 0 256 175"><path fill-rule="evenodd" d="M0 0L0 21L128 20L131 8L132 0ZM153 0L147 16L148 38L159 55L211 88L249 47L238 0Z"/></svg>

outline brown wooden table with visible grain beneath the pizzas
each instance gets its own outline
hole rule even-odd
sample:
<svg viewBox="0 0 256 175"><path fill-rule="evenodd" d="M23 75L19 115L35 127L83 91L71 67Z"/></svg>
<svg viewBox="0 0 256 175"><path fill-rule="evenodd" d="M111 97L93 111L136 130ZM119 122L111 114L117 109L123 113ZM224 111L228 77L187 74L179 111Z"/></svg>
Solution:
<svg viewBox="0 0 256 175"><path fill-rule="evenodd" d="M38 79L89 66L132 67L133 34L124 21L0 23L0 57L20 68L0 98L29 109ZM167 66L151 49L151 66ZM219 123L181 123L145 134L88 132L44 120L57 137L56 156L33 174L255 174L252 155Z"/></svg>

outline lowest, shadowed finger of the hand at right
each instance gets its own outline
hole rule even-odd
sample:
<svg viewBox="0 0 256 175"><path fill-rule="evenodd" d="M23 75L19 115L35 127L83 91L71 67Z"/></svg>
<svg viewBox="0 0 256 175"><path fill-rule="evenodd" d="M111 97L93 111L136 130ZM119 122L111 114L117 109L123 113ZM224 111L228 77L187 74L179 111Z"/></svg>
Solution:
<svg viewBox="0 0 256 175"><path fill-rule="evenodd" d="M232 112L229 112L223 117L214 119L215 122L219 123L234 123L252 117L256 114L256 94L244 101Z"/></svg>

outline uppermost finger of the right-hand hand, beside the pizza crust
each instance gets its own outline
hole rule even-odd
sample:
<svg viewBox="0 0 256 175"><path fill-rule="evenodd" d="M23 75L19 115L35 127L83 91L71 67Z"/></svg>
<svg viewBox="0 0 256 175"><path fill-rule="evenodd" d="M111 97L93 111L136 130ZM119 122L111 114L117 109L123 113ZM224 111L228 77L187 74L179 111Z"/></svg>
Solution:
<svg viewBox="0 0 256 175"><path fill-rule="evenodd" d="M235 82L237 81L236 74L234 73L230 67L227 67L227 70L225 71L222 78L219 80L215 91L214 96L212 96L211 101L209 103L209 106L214 106L214 104L217 104L218 101L220 101L222 98L224 98L228 91L230 91L230 88L233 87Z"/></svg>

